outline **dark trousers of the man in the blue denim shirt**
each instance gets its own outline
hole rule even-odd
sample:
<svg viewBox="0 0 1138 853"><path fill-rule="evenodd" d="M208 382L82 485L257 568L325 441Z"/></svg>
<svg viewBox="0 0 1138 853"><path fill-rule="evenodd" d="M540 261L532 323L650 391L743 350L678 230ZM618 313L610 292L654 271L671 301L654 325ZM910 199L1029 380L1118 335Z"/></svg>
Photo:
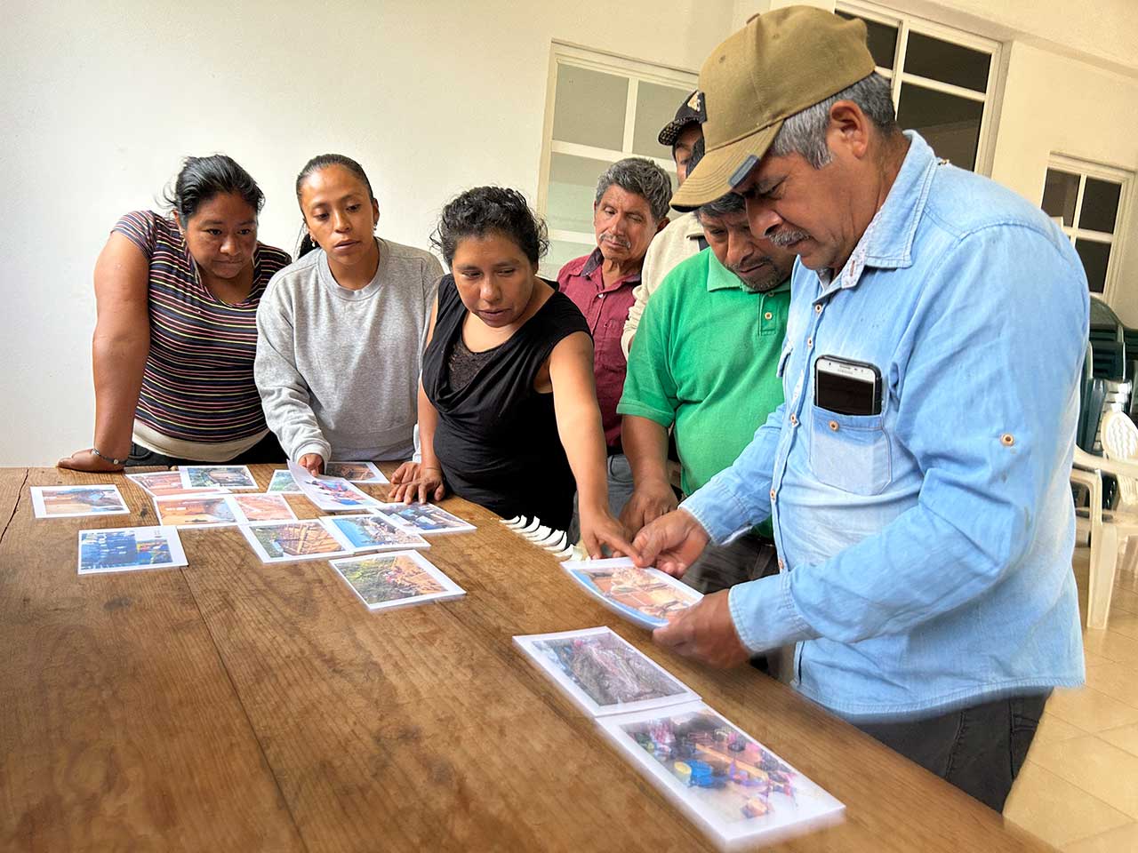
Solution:
<svg viewBox="0 0 1138 853"><path fill-rule="evenodd" d="M939 717L855 723L997 812L1012 790L1050 696L1012 696Z"/></svg>

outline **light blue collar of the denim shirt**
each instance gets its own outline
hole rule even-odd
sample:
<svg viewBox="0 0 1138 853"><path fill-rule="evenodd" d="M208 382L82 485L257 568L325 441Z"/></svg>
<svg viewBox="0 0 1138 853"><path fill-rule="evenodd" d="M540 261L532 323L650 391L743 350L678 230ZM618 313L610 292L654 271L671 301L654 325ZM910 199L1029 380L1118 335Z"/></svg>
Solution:
<svg viewBox="0 0 1138 853"><path fill-rule="evenodd" d="M933 172L939 160L916 131L905 131L909 150L885 204L874 215L836 278L818 273L819 298L838 288L856 287L866 267L897 270L913 265L913 240L929 200Z"/></svg>

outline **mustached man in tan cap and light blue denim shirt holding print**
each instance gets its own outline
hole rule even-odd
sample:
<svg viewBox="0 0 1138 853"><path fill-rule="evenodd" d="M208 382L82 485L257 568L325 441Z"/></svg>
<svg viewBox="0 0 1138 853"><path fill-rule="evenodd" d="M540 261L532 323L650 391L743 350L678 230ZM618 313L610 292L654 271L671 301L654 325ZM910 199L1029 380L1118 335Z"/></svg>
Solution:
<svg viewBox="0 0 1138 853"><path fill-rule="evenodd" d="M704 64L708 151L673 206L734 190L799 255L786 401L633 545L679 574L770 516L783 571L655 639L716 665L797 644L795 689L1000 810L1050 689L1083 678L1086 276L1038 208L902 134L873 67L864 24L806 7Z"/></svg>

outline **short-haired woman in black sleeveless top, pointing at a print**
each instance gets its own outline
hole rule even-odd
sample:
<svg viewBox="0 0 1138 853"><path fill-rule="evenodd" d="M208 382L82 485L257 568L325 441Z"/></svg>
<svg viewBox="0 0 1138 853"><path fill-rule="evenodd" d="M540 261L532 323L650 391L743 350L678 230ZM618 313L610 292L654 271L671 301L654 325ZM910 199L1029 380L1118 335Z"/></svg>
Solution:
<svg viewBox="0 0 1138 853"><path fill-rule="evenodd" d="M516 190L479 187L443 210L439 282L419 389L422 462L393 499L445 488L497 514L566 530L578 491L586 550L627 553L608 508L593 341L577 307L537 278L545 226Z"/></svg>

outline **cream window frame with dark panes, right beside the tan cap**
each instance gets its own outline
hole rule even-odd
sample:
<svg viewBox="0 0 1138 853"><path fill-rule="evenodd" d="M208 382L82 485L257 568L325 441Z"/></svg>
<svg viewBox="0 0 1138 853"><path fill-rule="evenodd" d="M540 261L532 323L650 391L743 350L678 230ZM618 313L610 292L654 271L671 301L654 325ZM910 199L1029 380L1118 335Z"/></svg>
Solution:
<svg viewBox="0 0 1138 853"><path fill-rule="evenodd" d="M898 108L901 98L901 84L912 83L922 89L930 89L934 92L951 94L957 98L965 98L971 101L983 103L983 111L980 115L980 138L976 141L976 163L974 171L978 175L991 176L992 156L996 150L996 111L997 92L1000 78L1000 52L1001 45L998 41L986 39L974 33L938 24L934 20L908 15L876 3L861 2L861 0L840 0L835 3L835 11L847 15L855 15L866 20L874 20L879 24L897 28L897 47L893 55L893 68L900 68L900 74L894 74L892 68L877 66L877 73L890 81L893 109ZM972 89L941 83L938 80L930 80L918 74L910 74L905 71L905 52L909 43L909 33L929 35L950 44L958 44L962 48L988 53L991 60L988 63L988 84L983 92Z"/></svg>

